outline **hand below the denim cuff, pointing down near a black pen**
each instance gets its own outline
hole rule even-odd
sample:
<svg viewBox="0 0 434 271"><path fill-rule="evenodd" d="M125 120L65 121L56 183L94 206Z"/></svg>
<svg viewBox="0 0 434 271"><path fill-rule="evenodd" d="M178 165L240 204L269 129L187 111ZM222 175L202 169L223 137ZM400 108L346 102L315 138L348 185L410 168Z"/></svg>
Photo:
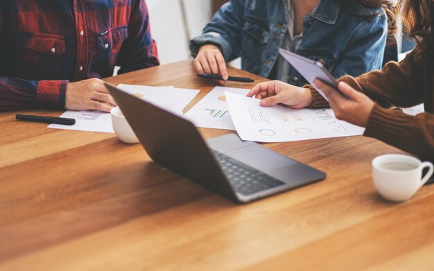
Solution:
<svg viewBox="0 0 434 271"><path fill-rule="evenodd" d="M198 73L220 74L224 79L220 80L222 84L229 77L225 58L223 58L220 48L214 44L205 44L200 47L198 55L193 60L193 67Z"/></svg>

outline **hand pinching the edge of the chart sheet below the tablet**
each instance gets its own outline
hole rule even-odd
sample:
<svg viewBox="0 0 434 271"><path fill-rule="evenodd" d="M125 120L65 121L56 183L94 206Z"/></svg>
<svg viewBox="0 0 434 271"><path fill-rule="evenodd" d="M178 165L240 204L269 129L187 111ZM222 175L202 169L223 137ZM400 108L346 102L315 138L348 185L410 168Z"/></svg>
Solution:
<svg viewBox="0 0 434 271"><path fill-rule="evenodd" d="M261 82L254 86L247 96L261 99L262 106L282 103L290 108L300 109L312 103L311 89L295 87L279 80Z"/></svg>

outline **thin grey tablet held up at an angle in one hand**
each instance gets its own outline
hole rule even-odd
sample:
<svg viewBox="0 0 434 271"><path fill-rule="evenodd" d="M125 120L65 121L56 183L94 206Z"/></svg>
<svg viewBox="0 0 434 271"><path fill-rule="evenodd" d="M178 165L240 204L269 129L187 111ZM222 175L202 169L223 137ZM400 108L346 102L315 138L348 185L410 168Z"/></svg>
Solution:
<svg viewBox="0 0 434 271"><path fill-rule="evenodd" d="M336 89L336 91L339 91L342 96L345 96L338 89L338 81L329 71L327 71L322 63L309 58L304 58L301 55L297 55L296 53L284 49L279 49L279 53L312 85L313 80L320 79L322 82ZM317 91L324 97L324 99L329 101L320 89L317 89Z"/></svg>

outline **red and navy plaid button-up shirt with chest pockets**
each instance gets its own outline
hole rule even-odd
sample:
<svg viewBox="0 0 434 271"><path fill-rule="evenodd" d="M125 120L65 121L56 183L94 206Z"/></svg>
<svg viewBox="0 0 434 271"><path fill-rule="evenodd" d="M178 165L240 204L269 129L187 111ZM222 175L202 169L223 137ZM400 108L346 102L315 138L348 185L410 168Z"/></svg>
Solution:
<svg viewBox="0 0 434 271"><path fill-rule="evenodd" d="M158 64L144 0L0 1L0 112L62 109L68 81Z"/></svg>

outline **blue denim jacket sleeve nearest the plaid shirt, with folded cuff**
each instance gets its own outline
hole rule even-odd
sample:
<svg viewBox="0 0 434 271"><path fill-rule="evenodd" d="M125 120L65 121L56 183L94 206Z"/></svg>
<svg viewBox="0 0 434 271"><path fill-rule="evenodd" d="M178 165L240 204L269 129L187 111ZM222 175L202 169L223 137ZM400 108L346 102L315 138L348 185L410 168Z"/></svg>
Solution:
<svg viewBox="0 0 434 271"><path fill-rule="evenodd" d="M238 58L240 54L241 30L245 1L231 0L223 5L205 26L202 35L190 41L190 51L196 57L200 46L215 44L220 47L226 61Z"/></svg>

